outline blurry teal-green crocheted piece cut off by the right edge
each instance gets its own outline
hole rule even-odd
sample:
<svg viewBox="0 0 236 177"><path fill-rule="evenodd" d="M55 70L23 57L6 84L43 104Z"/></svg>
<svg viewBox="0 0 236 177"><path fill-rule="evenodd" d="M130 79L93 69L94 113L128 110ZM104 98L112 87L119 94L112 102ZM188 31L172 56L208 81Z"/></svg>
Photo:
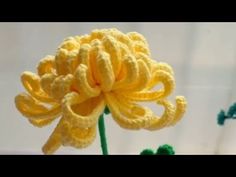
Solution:
<svg viewBox="0 0 236 177"><path fill-rule="evenodd" d="M217 123L219 125L224 125L226 119L236 119L236 103L229 107L227 114L225 114L224 110L218 113Z"/></svg>

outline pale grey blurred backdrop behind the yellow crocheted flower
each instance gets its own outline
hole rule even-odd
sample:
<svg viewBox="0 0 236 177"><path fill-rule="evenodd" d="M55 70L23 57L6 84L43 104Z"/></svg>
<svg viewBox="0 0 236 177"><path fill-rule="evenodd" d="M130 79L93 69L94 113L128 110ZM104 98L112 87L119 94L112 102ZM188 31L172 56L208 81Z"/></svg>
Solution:
<svg viewBox="0 0 236 177"><path fill-rule="evenodd" d="M14 97L25 91L21 73L36 72L64 38L99 28L143 34L152 58L175 71L172 100L184 95L188 101L176 126L154 132L122 129L107 116L110 154L139 154L166 143L176 154L236 154L236 120L223 127L216 121L220 109L236 102L236 23L0 23L0 154L42 154L57 123L36 128L17 111ZM86 149L61 147L56 154L101 154L99 136Z"/></svg>

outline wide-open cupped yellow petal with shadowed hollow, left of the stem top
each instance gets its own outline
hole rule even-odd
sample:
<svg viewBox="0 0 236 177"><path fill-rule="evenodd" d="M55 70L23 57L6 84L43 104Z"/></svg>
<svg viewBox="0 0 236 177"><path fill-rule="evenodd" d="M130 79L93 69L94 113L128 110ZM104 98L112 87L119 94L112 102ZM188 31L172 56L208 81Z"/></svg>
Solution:
<svg viewBox="0 0 236 177"><path fill-rule="evenodd" d="M75 92L67 94L63 100L64 117L74 127L94 126L104 111L105 104L101 96L85 100Z"/></svg>

